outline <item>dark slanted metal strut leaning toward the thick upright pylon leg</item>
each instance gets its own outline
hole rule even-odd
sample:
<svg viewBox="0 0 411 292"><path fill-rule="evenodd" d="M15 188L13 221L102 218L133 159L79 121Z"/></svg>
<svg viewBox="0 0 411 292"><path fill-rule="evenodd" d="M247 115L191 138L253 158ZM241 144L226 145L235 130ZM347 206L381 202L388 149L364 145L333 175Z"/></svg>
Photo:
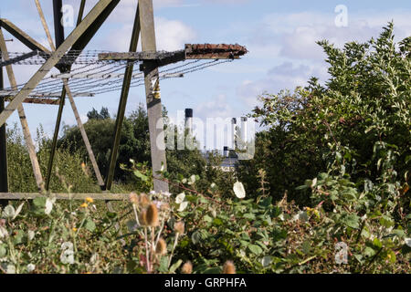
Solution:
<svg viewBox="0 0 411 292"><path fill-rule="evenodd" d="M137 5L137 11L134 17L134 25L132 27L132 40L130 42L130 48L129 48L130 52L135 52L137 50L139 35L140 35L140 13L139 13L139 6ZM127 99L129 97L130 84L132 83L133 68L134 68L133 63L130 62L129 66L127 66L125 70L124 79L122 81L121 97L120 97L119 109L117 110L116 124L114 127L113 142L112 142L111 154L110 154L110 164L109 164L109 169L108 169L107 176L106 176L105 190L111 190L111 184L112 184L112 180L114 177L114 170L116 167L117 155L119 153L119 147L120 147L122 122L124 120Z"/></svg>

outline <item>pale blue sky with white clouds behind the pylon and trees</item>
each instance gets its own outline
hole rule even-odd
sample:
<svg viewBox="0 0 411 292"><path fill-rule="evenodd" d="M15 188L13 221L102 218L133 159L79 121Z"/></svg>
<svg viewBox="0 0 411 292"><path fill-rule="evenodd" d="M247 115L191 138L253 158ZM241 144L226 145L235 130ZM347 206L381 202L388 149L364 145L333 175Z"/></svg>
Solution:
<svg viewBox="0 0 411 292"><path fill-rule="evenodd" d="M88 0L89 10L96 0ZM48 26L53 32L52 1L41 0ZM79 0L63 0L78 11ZM101 27L86 49L127 51L136 0L121 4ZM348 26L335 25L337 5L348 8ZM33 0L2 0L0 14L20 26L30 36L48 47L47 38L37 16ZM411 1L277 1L277 0L154 0L158 49L176 50L184 43L238 43L248 47L249 54L240 60L215 68L168 79L162 83L163 104L172 117L177 110L193 108L196 117L230 118L248 114L264 91L303 86L311 77L325 81L327 67L324 55L315 41L329 39L341 47L351 40L365 41L378 36L381 27L395 22L397 39L411 36ZM69 29L66 29L68 35ZM10 38L5 34L6 38ZM7 43L9 51L27 51L17 40ZM28 80L36 67L15 66L17 83ZM5 77L5 86L8 82ZM80 115L93 107L108 107L117 112L120 92L94 98L76 99ZM130 92L127 112L145 101L143 88ZM41 123L51 135L58 107L25 104L26 116L35 136ZM64 110L65 124L75 123L70 107ZM16 113L8 124L18 122ZM19 125L19 123L18 123Z"/></svg>

